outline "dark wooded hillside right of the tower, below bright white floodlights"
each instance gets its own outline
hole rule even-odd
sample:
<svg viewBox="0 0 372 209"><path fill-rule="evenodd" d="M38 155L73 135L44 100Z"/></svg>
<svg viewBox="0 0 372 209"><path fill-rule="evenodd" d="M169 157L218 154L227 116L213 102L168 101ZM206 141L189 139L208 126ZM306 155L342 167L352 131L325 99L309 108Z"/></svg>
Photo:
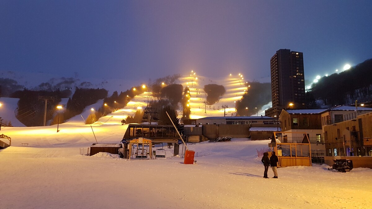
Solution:
<svg viewBox="0 0 372 209"><path fill-rule="evenodd" d="M357 99L371 100L372 59L339 74L321 78L306 96L308 108L318 107L315 101L319 99L327 106L352 104Z"/></svg>

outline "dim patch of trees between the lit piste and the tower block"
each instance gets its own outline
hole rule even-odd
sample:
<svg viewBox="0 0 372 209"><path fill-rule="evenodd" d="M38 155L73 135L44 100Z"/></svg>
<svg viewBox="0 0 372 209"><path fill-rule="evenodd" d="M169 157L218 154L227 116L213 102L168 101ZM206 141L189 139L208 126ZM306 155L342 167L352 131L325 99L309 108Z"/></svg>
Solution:
<svg viewBox="0 0 372 209"><path fill-rule="evenodd" d="M236 102L236 108L238 115L250 116L257 112L256 107L261 109L271 101L271 83L251 82L246 83L245 86L246 93Z"/></svg>

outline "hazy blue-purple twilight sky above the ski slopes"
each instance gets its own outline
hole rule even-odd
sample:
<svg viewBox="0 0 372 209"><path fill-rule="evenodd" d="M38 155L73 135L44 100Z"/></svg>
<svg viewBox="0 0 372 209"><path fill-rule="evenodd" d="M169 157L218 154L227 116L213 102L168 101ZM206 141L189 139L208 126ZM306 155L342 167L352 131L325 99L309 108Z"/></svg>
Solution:
<svg viewBox="0 0 372 209"><path fill-rule="evenodd" d="M371 11L364 0L0 0L0 70L268 82L286 48L304 53L314 80L372 58Z"/></svg>

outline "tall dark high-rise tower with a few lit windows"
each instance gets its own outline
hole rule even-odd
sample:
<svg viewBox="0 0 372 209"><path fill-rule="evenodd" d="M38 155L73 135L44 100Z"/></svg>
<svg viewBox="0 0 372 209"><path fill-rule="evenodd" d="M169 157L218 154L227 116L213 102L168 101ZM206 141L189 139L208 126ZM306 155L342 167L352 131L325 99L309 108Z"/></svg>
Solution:
<svg viewBox="0 0 372 209"><path fill-rule="evenodd" d="M305 109L305 76L302 52L279 49L270 60L272 108L266 116L280 115L289 107Z"/></svg>

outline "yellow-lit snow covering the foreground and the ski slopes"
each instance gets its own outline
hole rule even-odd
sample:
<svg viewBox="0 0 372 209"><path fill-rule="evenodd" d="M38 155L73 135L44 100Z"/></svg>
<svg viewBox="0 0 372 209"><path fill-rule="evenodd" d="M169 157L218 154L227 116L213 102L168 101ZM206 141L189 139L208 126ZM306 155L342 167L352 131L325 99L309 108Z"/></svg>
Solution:
<svg viewBox="0 0 372 209"><path fill-rule="evenodd" d="M196 88L210 83L203 80L200 77L200 85L190 89L192 113L222 116L223 110L217 108L208 107L204 113L200 101L205 94L196 97ZM215 107L234 107L235 99L244 93L235 80L224 85L225 99ZM91 108L102 106L102 100L59 124L58 133L57 125L3 127L0 134L12 137L12 146L0 150L0 208L371 208L369 168L337 173L328 171L327 165L285 167L278 169L278 179L264 179L257 149L267 148L267 140L189 144L196 152L193 165L183 164L183 158L173 156L166 145L166 158L156 160L84 155L96 139L119 143L128 127L120 121L145 107L147 100L147 93L134 97L92 128L81 116L86 119ZM16 107L9 104L4 106L13 114L7 117L14 117Z"/></svg>

